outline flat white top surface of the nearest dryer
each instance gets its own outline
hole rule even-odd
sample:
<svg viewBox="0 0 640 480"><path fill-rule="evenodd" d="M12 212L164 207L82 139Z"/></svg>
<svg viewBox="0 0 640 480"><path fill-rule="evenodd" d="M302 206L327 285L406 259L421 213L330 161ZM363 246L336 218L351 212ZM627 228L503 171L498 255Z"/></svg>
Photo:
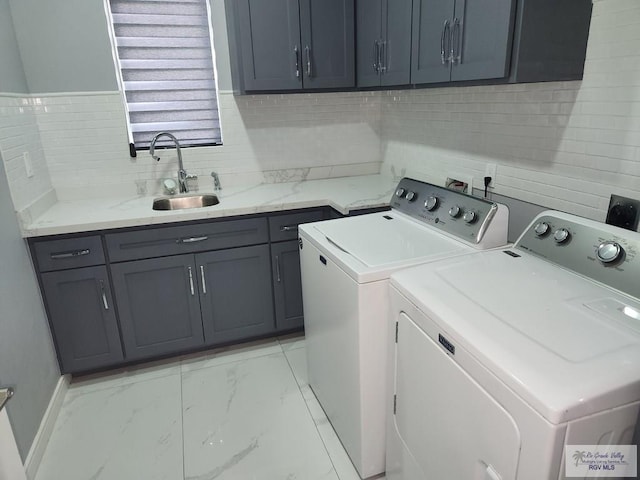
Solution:
<svg viewBox="0 0 640 480"><path fill-rule="evenodd" d="M473 253L391 282L552 423L639 400L640 302L517 255Z"/></svg>

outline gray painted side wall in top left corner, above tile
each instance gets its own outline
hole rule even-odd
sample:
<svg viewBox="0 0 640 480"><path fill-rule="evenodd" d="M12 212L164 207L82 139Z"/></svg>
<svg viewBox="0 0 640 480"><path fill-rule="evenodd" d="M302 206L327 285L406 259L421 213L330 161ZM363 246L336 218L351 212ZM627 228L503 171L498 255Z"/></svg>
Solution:
<svg viewBox="0 0 640 480"><path fill-rule="evenodd" d="M0 92L27 92L27 80L7 0L0 0Z"/></svg>

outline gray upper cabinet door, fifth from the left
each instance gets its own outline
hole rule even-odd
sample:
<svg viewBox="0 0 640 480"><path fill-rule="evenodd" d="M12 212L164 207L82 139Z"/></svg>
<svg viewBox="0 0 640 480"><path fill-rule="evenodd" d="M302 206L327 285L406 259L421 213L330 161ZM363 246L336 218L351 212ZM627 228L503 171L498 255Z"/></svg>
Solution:
<svg viewBox="0 0 640 480"><path fill-rule="evenodd" d="M485 3L482 2L483 5ZM411 83L450 80L454 7L454 0L414 0ZM492 20L491 25L494 23Z"/></svg>

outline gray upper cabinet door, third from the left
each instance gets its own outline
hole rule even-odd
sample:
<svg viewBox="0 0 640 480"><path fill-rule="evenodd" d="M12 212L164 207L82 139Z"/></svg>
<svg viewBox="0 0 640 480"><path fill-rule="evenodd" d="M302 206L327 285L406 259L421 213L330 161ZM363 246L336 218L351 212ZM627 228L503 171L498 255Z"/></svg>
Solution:
<svg viewBox="0 0 640 480"><path fill-rule="evenodd" d="M359 87L380 85L380 45L383 41L382 1L359 0L356 3L358 35L356 61Z"/></svg>

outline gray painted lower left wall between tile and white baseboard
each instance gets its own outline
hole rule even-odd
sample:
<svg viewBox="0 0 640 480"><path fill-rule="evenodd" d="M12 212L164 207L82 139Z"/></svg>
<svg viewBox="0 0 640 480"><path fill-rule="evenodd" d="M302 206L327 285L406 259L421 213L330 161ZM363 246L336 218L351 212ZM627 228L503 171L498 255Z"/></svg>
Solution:
<svg viewBox="0 0 640 480"><path fill-rule="evenodd" d="M13 386L8 413L24 460L60 372L25 241L0 159L0 385Z"/></svg>

